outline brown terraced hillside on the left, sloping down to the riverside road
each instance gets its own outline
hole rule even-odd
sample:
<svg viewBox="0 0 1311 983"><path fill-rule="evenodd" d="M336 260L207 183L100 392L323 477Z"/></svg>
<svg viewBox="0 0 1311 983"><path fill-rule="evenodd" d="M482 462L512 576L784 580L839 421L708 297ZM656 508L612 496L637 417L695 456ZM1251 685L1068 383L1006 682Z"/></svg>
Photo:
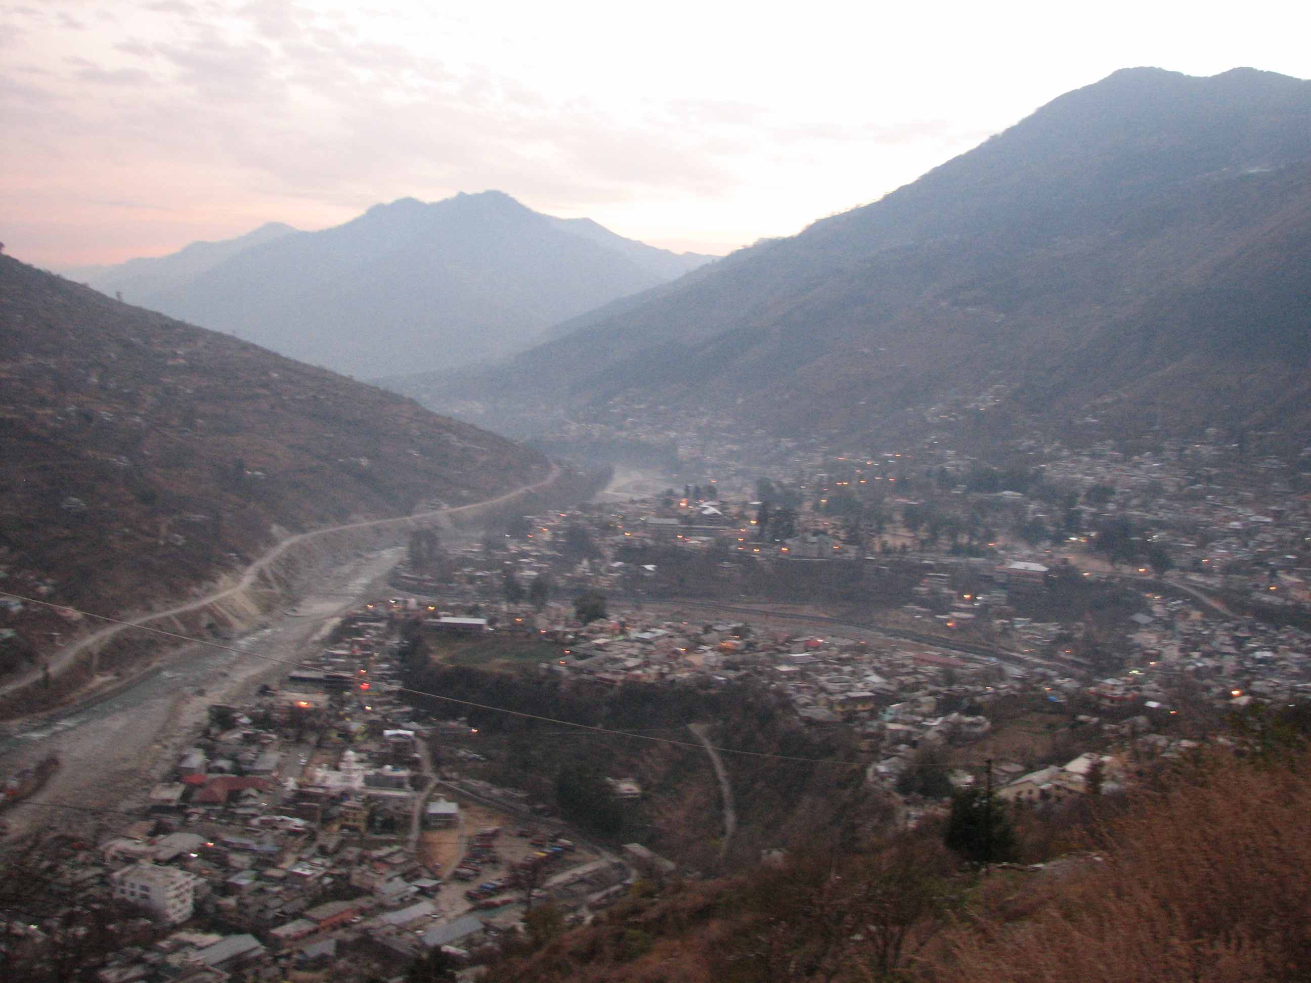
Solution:
<svg viewBox="0 0 1311 983"><path fill-rule="evenodd" d="M0 583L105 613L185 598L279 530L464 505L551 472L410 400L8 257L0 413ZM0 671L62 628L34 611L0 621Z"/></svg>

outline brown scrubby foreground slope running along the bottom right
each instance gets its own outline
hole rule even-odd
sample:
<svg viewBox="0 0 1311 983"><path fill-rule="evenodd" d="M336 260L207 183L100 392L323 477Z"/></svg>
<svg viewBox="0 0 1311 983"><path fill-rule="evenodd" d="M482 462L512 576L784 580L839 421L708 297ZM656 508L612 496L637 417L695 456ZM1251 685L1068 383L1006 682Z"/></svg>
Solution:
<svg viewBox="0 0 1311 983"><path fill-rule="evenodd" d="M1311 976L1311 772L1207 756L1065 824L1041 870L935 831L726 881L638 886L506 958L517 983L1252 983ZM1027 823L1028 826L1028 823ZM1032 830L1030 830L1032 831Z"/></svg>

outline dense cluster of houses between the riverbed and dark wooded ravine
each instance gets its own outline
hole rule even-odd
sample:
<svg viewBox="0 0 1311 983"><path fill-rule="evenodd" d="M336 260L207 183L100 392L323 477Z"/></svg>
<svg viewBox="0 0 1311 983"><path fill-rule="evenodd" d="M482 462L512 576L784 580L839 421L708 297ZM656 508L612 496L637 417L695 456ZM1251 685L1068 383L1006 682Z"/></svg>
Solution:
<svg viewBox="0 0 1311 983"><path fill-rule="evenodd" d="M117 903L144 925L100 966L102 983L282 980L307 969L391 978L434 948L468 959L515 932L518 868L540 866L536 896L568 908L632 879L619 857L558 832L471 827L461 798L528 820L534 803L461 779L459 755L440 772L430 764L430 742L442 754L442 734L468 726L418 722L399 699L400 617L413 617L402 603L370 606L277 688L211 706L140 818L51 864L79 904ZM440 855L430 830L448 834ZM499 879L469 883L496 870Z"/></svg>

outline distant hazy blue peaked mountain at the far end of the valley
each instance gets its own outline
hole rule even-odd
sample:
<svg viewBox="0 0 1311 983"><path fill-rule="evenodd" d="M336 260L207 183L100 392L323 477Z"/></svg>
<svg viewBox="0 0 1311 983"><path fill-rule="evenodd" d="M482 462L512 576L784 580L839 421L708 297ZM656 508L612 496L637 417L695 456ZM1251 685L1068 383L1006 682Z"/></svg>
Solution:
<svg viewBox="0 0 1311 983"><path fill-rule="evenodd" d="M484 191L379 204L343 225L250 244L125 299L372 377L509 355L557 321L711 258Z"/></svg>

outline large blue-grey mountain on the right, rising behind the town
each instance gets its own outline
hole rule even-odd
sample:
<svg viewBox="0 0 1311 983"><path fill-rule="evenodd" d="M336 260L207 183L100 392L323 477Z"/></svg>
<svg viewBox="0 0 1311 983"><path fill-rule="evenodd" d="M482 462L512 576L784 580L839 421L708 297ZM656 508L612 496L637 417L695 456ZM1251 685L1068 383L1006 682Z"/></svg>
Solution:
<svg viewBox="0 0 1311 983"><path fill-rule="evenodd" d="M389 384L506 433L654 401L783 435L1301 446L1308 326L1311 83L1133 68L503 364Z"/></svg>

